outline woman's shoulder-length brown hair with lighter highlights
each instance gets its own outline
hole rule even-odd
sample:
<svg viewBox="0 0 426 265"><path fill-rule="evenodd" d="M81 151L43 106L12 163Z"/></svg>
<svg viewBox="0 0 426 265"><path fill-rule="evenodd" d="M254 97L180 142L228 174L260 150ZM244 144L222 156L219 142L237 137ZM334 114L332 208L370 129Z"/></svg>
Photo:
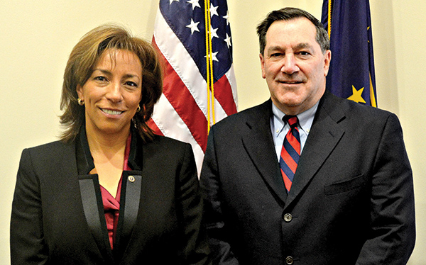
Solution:
<svg viewBox="0 0 426 265"><path fill-rule="evenodd" d="M133 124L144 142L153 139L153 130L146 123L163 91L163 71L158 52L146 40L133 37L121 26L107 24L90 30L82 37L72 49L65 67L60 100L60 109L63 111L60 123L65 128L60 139L65 142L74 140L84 125L84 106L77 102L77 85L83 86L86 83L99 57L108 49L129 50L141 61L141 111L133 116Z"/></svg>

